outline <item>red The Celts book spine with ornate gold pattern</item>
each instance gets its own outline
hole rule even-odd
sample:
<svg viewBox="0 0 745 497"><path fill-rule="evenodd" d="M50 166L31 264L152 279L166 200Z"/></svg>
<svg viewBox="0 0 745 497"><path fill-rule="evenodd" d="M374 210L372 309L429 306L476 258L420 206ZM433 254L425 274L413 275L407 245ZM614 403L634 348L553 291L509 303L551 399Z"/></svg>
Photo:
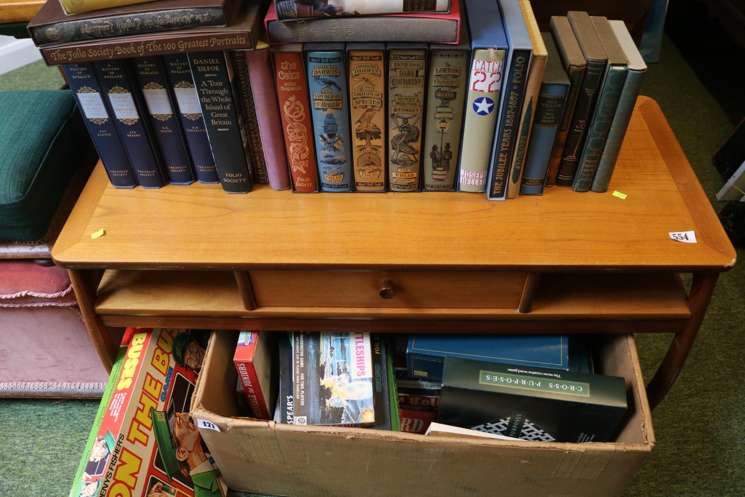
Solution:
<svg viewBox="0 0 745 497"><path fill-rule="evenodd" d="M292 186L298 192L318 191L318 165L302 52L277 51L273 56L279 115Z"/></svg>

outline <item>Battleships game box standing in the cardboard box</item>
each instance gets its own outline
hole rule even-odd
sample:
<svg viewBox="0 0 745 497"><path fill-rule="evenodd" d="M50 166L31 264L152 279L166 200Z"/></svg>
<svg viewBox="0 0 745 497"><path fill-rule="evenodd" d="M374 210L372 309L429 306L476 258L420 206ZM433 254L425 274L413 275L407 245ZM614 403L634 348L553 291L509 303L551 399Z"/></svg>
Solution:
<svg viewBox="0 0 745 497"><path fill-rule="evenodd" d="M375 423L370 334L294 332L294 424Z"/></svg>

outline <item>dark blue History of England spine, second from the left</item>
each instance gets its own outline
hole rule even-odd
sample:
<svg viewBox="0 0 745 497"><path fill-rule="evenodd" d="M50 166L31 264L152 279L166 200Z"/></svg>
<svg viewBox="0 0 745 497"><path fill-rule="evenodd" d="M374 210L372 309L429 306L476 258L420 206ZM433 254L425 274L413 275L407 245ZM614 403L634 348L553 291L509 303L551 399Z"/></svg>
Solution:
<svg viewBox="0 0 745 497"><path fill-rule="evenodd" d="M165 185L164 176L150 143L147 127L137 108L126 60L101 60L93 65L101 82L101 89L107 94L116 129L139 184L143 188L160 188Z"/></svg>

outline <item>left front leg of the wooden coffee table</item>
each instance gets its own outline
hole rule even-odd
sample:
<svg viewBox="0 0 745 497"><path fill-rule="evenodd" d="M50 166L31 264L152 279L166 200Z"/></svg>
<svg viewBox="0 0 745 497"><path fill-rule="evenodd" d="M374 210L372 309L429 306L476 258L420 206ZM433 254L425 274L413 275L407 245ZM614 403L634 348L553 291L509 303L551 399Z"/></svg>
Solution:
<svg viewBox="0 0 745 497"><path fill-rule="evenodd" d="M95 295L98 283L104 276L104 270L77 270L69 269L72 289L75 290L77 305L80 307L80 314L83 315L83 322L93 341L98 357L107 370L111 372L116 356L116 347L111 339L109 329L101 323L101 319L95 314Z"/></svg>

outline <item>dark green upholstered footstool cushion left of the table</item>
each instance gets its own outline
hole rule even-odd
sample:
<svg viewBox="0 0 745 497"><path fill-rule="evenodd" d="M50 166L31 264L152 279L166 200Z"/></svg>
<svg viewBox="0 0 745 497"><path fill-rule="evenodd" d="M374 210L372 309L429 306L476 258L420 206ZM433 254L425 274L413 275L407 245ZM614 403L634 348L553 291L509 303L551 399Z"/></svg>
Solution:
<svg viewBox="0 0 745 497"><path fill-rule="evenodd" d="M90 137L69 90L0 92L0 241L42 241Z"/></svg>

